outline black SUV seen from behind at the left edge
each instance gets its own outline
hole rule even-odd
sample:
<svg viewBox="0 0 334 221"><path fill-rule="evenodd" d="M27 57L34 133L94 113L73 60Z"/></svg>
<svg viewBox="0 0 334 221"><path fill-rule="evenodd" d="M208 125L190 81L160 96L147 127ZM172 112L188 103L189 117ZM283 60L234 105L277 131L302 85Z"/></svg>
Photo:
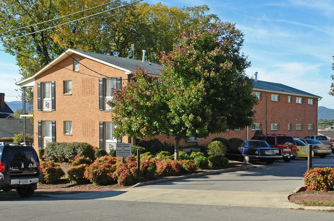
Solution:
<svg viewBox="0 0 334 221"><path fill-rule="evenodd" d="M15 189L29 197L42 181L40 161L32 146L0 142L0 190Z"/></svg>

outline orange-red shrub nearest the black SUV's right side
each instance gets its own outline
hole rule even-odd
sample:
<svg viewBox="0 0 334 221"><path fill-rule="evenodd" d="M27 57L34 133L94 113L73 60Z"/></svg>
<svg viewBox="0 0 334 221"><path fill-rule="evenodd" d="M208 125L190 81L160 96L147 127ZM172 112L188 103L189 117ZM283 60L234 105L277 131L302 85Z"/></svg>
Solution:
<svg viewBox="0 0 334 221"><path fill-rule="evenodd" d="M52 161L42 162L41 171L43 174L42 183L54 183L65 175L60 165Z"/></svg>

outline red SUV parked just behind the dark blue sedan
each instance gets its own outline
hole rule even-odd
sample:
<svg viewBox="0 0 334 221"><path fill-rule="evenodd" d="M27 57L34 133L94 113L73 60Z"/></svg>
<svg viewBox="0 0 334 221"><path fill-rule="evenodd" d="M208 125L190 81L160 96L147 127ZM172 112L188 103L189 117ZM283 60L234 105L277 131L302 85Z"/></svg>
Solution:
<svg viewBox="0 0 334 221"><path fill-rule="evenodd" d="M282 134L266 134L255 135L252 140L264 140L271 148L279 148L282 151L283 160L290 162L291 159L297 156L297 145L293 138L289 135Z"/></svg>

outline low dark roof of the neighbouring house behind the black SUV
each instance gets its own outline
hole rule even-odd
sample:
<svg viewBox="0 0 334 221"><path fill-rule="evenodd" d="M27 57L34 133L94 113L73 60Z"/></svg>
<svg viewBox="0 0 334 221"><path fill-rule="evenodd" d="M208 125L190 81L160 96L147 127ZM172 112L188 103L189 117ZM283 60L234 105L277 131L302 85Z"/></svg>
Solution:
<svg viewBox="0 0 334 221"><path fill-rule="evenodd" d="M33 135L33 124L26 120L26 133ZM23 119L0 119L0 138L12 138L23 132Z"/></svg>

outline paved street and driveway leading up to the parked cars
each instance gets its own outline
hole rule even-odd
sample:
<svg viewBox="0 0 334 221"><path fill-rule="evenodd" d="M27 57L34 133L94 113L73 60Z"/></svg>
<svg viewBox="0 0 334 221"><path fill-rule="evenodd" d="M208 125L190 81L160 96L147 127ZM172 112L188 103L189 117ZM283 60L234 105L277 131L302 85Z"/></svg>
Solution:
<svg viewBox="0 0 334 221"><path fill-rule="evenodd" d="M332 212L296 210L287 196L303 185L306 160L100 193L1 196L3 220L332 220ZM334 156L313 158L334 167Z"/></svg>

